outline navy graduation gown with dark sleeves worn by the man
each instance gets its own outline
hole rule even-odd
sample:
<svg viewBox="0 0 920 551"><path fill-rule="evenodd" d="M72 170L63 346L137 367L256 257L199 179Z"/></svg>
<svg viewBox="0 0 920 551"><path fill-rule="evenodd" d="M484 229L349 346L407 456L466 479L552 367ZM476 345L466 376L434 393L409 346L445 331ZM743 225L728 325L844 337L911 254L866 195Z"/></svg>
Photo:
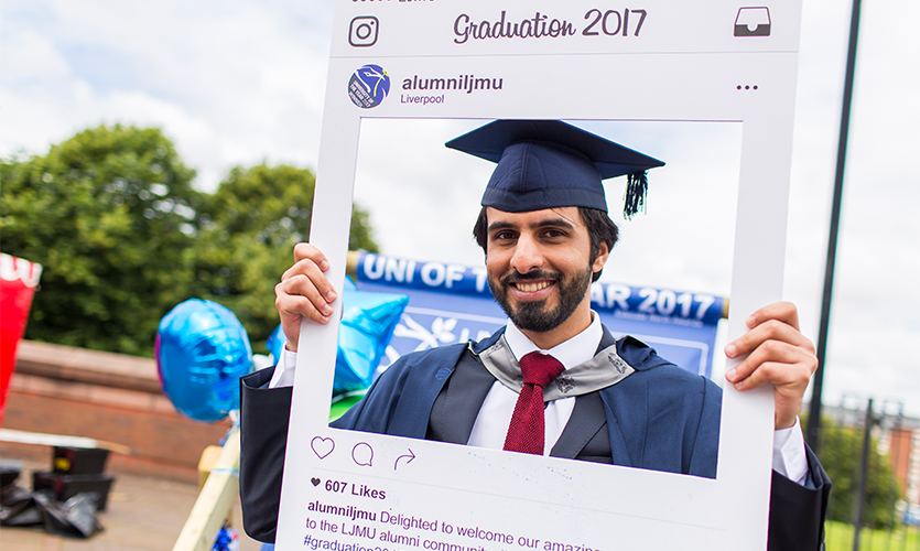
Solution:
<svg viewBox="0 0 920 551"><path fill-rule="evenodd" d="M367 397L333 423L340 429L465 444L495 377L476 353L502 331L469 347L432 348L401 357ZM598 350L615 343L604 328ZM722 390L658 356L632 337L617 354L636 371L576 398L552 456L714 478ZM273 368L241 379L240 500L243 528L274 541L292 389L269 389ZM255 426L255 430L247 430ZM830 480L809 451L800 486L773 473L769 549L816 550Z"/></svg>

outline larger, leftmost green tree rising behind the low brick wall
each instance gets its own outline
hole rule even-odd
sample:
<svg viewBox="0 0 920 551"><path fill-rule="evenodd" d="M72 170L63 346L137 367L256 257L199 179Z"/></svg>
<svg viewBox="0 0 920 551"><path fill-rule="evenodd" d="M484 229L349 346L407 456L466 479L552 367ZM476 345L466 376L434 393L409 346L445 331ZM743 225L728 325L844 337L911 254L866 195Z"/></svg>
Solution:
<svg viewBox="0 0 920 551"><path fill-rule="evenodd" d="M202 195L159 129L79 132L0 161L3 251L43 266L25 338L151 355L185 277Z"/></svg>

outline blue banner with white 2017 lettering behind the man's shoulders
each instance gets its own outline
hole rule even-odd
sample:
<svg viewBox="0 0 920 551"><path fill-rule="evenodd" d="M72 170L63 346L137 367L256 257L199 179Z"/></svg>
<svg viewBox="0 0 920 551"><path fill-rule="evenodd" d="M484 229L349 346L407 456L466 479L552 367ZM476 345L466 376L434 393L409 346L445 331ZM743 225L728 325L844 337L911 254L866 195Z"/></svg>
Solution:
<svg viewBox="0 0 920 551"><path fill-rule="evenodd" d="M493 299L484 266L361 253L356 274L361 291L409 295L381 369L413 350L479 341L507 323ZM599 282L592 284L591 298L592 309L615 336L632 335L674 364L712 375L716 325L725 299Z"/></svg>

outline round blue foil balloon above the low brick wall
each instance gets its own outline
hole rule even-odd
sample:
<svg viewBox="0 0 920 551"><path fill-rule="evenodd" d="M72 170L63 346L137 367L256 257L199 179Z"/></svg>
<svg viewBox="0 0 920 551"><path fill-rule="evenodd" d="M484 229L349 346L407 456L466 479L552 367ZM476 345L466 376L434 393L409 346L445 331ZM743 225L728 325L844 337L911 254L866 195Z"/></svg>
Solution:
<svg viewBox="0 0 920 551"><path fill-rule="evenodd" d="M163 392L182 413L214 422L239 409L239 378L252 370L249 336L237 316L190 299L160 321L156 366Z"/></svg>

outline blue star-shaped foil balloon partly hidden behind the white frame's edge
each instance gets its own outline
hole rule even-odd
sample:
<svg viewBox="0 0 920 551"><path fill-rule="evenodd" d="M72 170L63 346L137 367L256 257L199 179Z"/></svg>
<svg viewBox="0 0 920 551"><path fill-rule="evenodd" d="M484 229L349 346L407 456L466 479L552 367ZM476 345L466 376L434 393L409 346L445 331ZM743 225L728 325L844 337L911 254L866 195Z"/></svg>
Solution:
<svg viewBox="0 0 920 551"><path fill-rule="evenodd" d="M404 294L358 291L350 279L343 287L342 324L335 358L333 395L367 389L377 366L387 353L402 311L409 303ZM279 325L269 336L268 348L274 360L281 357L288 337Z"/></svg>

